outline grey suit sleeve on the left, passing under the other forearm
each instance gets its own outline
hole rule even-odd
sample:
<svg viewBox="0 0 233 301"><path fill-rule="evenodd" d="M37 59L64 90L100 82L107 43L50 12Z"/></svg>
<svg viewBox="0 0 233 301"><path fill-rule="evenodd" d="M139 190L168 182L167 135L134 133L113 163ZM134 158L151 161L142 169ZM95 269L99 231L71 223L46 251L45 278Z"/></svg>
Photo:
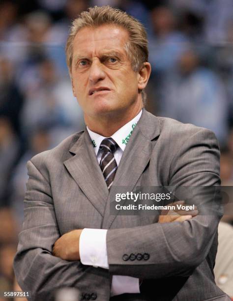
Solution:
<svg viewBox="0 0 233 301"><path fill-rule="evenodd" d="M14 271L20 287L31 292L32 301L54 300L54 292L62 286L77 288L80 298L82 294L94 294L100 300L107 300L106 296L110 296L107 270L52 255L53 244L60 235L51 187L48 179L31 161L27 167L29 181L24 201L25 218L14 259Z"/></svg>

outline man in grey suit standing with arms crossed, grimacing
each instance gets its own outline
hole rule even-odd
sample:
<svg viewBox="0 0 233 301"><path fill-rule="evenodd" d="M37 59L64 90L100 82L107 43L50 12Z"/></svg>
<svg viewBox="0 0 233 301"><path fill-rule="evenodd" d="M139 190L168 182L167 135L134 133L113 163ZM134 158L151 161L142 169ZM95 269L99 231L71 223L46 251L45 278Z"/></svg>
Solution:
<svg viewBox="0 0 233 301"><path fill-rule="evenodd" d="M118 186L220 183L212 132L143 109L145 29L118 9L90 8L66 53L87 129L28 162L20 286L36 301L62 286L80 300L229 300L212 272L218 216L110 214Z"/></svg>

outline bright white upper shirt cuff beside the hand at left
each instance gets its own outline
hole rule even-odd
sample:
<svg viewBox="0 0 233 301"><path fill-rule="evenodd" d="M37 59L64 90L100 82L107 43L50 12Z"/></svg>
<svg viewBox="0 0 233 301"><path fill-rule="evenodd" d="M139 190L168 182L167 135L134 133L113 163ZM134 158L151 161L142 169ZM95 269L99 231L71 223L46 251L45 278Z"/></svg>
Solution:
<svg viewBox="0 0 233 301"><path fill-rule="evenodd" d="M79 239L79 254L83 265L109 269L105 229L83 229Z"/></svg>

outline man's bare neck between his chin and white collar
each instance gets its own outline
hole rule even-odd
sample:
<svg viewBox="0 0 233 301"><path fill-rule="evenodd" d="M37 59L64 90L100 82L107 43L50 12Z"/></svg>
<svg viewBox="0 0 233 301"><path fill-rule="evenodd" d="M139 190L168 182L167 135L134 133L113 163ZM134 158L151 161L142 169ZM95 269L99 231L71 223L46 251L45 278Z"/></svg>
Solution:
<svg viewBox="0 0 233 301"><path fill-rule="evenodd" d="M134 119L141 110L142 106L137 109L135 108L135 110L131 112L117 112L117 114L115 112L115 114L106 114L101 116L101 119L99 116L96 119L85 116L84 119L91 131L104 137L110 137L116 133L119 128Z"/></svg>

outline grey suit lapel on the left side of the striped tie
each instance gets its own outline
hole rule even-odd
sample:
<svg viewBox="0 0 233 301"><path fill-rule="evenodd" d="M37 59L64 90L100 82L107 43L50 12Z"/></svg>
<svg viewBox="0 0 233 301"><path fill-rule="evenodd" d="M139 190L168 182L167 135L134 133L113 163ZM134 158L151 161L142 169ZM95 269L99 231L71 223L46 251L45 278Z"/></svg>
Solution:
<svg viewBox="0 0 233 301"><path fill-rule="evenodd" d="M95 209L103 216L109 192L87 129L71 147L70 152L75 155L64 162L65 167Z"/></svg>

